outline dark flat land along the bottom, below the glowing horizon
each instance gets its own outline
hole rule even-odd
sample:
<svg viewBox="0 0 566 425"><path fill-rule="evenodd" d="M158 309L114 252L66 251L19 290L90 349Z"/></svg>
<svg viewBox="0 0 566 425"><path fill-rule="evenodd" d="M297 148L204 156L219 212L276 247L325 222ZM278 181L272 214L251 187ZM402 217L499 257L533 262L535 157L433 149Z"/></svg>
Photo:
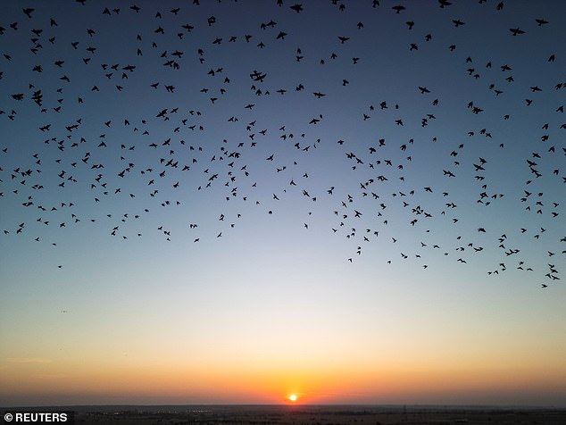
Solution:
<svg viewBox="0 0 566 425"><path fill-rule="evenodd" d="M566 409L363 405L75 406L75 423L108 424L541 424L563 425ZM7 411L7 410L6 410Z"/></svg>

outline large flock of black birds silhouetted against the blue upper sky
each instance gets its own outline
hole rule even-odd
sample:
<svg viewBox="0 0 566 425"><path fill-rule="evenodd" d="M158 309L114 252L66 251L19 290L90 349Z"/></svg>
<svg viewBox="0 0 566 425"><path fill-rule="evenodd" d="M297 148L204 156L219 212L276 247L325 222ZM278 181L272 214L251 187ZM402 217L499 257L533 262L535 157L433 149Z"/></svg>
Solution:
<svg viewBox="0 0 566 425"><path fill-rule="evenodd" d="M566 121L563 102L539 103L537 96L550 91L563 96L561 52L549 53L541 64L555 79L534 84L513 74L515 64L499 63L497 57L476 60L453 40L437 37L425 17L419 21L412 13L411 2L355 2L356 7L367 3L368 13L358 19L348 14L353 3L272 0L272 16L283 17L287 26L266 16L249 28L243 23L239 33L228 31L234 21L253 21L244 17L255 16L256 3L69 0L64 12L46 4L14 6L15 14L0 18L4 240L26 238L57 249L53 229L97 226L122 240L151 231L165 241L189 237L194 244L204 238L221 243L245 220L246 205L272 216L277 225L279 205L287 201L287 207L304 210L304 221L297 223L304 230L326 223L321 215L329 217L328 231L337 244L349 246L346 262L356 262L372 244L387 249L387 257L376 263L411 258L423 269L435 262L433 255L468 264L486 254L494 261L486 276L514 268L532 272L529 279L542 287L558 282L566 259ZM450 14L453 3L437 0L427 7L457 31L467 20ZM489 14L512 7L469 3L470 11ZM207 12L221 7L241 16L227 22L229 16ZM348 33L336 33L313 52L310 41L293 32L304 25L295 21L308 9L320 9L320 21L325 14L354 21ZM358 79L371 79L356 70L387 52L386 46L364 53L355 44L372 25L370 13L395 21L407 37L416 34L403 53L404 60L415 58L412 97L383 96L381 85L387 82L376 78L365 81L373 102L347 100ZM552 21L534 16L504 29L501 37L515 43L552 27ZM289 40L305 46L289 46ZM433 45L452 61L451 73L477 84L480 99L490 96L488 105L460 99L469 128L452 128L451 112L443 109L448 94L422 83L427 79L420 78L418 61ZM529 67L529 61L518 65ZM519 100L525 91L529 97ZM305 117L299 112L307 106ZM345 107L357 119L337 123ZM513 151L504 136L517 110L532 116L538 134L528 142L526 156ZM499 111L501 116L484 120ZM371 127L374 122L377 127ZM496 124L489 128L486 122ZM337 124L370 129L374 136L336 137ZM430 129L458 138L440 140ZM321 171L327 163L332 163L329 171ZM493 179L505 167L516 175L504 192ZM430 181L441 183L427 183L430 174L436 176ZM196 199L209 205L195 212ZM509 203L512 210L498 209ZM187 212L181 235L167 221L178 211ZM501 217L502 211L513 217ZM144 218L152 214L162 217L162 224L147 229ZM523 216L529 225L519 222ZM454 233L452 245L448 233ZM397 249L402 242L404 248ZM540 258L523 256L523 248L537 250Z"/></svg>

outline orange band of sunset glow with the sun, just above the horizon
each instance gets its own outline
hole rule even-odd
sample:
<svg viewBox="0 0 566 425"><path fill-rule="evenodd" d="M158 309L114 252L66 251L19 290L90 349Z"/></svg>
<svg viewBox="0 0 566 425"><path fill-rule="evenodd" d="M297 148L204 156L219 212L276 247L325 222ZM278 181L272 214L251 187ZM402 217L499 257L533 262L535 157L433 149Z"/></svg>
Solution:
<svg viewBox="0 0 566 425"><path fill-rule="evenodd" d="M24 359L25 360L25 359ZM202 362L196 366L177 363L69 362L41 357L20 362L0 359L3 383L0 398L29 394L29 404L46 395L69 398L76 403L96 400L111 404L129 400L137 404L395 404L405 401L436 404L460 400L484 401L529 391L562 388L563 371L552 374L540 368L487 368L479 365L457 370L436 364L398 364L387 362L382 368L363 370L336 365L314 369L297 367L266 371L263 368L213 368ZM138 364L146 364L139 371ZM84 385L88 382L88 386ZM513 388L527 387L516 392ZM7 388L10 388L9 390ZM505 398L507 397L507 398Z"/></svg>

